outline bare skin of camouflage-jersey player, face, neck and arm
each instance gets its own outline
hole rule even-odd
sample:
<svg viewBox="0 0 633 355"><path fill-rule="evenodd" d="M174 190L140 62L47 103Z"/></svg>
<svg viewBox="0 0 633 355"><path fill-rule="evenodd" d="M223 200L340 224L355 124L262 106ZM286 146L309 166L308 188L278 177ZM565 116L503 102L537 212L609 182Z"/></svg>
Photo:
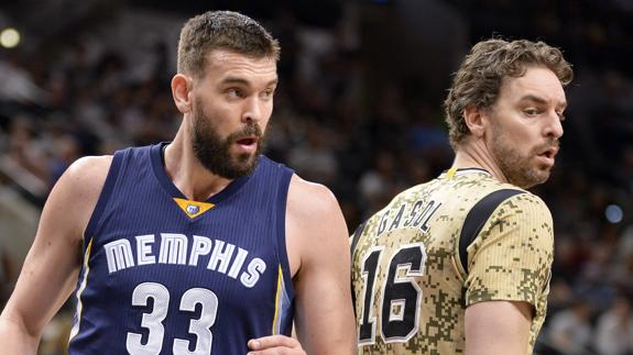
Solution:
<svg viewBox="0 0 633 355"><path fill-rule="evenodd" d="M503 182L528 188L549 177L563 135L565 91L545 67L506 78L491 109L465 110L471 134L460 142L454 167L479 167ZM466 309L466 353L525 354L533 307L487 301Z"/></svg>

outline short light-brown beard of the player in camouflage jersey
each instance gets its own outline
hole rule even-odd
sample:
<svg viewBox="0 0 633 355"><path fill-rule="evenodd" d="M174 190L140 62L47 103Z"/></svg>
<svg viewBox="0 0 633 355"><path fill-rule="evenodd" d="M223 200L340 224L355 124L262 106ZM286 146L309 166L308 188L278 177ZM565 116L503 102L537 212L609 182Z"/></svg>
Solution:
<svg viewBox="0 0 633 355"><path fill-rule="evenodd" d="M532 149L527 156L523 156L513 147L512 142L506 140L508 133L503 132L499 125L495 125L493 131L492 153L508 182L528 189L547 181L554 166L539 167L535 165L532 159L536 156L537 152L545 151L552 146L558 146L558 141L539 145Z"/></svg>

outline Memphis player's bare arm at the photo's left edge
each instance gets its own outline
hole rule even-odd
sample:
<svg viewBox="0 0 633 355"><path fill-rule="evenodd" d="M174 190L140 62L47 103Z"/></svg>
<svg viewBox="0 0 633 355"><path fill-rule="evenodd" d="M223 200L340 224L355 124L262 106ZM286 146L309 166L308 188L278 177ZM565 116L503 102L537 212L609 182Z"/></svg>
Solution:
<svg viewBox="0 0 633 355"><path fill-rule="evenodd" d="M35 354L44 325L73 292L83 233L110 162L111 157L79 159L53 188L15 290L0 315L3 354Z"/></svg>

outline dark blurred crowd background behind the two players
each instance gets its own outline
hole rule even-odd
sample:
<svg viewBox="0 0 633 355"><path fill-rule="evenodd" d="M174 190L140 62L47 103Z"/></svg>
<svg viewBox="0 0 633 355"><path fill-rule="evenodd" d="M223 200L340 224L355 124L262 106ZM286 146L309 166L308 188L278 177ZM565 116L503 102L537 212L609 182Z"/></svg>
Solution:
<svg viewBox="0 0 633 355"><path fill-rule="evenodd" d="M183 22L241 11L281 42L268 155L350 231L449 167L441 102L469 47L543 40L574 64L557 168L533 190L556 255L536 353L633 354L633 0L21 0L0 4L0 304L52 186L84 155L168 141ZM65 354L72 301L40 354Z"/></svg>

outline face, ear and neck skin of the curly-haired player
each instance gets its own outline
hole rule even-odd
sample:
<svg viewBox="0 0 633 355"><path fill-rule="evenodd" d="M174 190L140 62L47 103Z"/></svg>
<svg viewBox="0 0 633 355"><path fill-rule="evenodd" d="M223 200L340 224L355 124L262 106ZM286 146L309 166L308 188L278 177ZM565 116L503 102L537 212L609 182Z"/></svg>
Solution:
<svg viewBox="0 0 633 355"><path fill-rule="evenodd" d="M454 166L484 168L522 188L544 182L554 167L566 106L563 86L547 68L532 67L523 77L505 79L491 109L465 110L471 134L460 142ZM516 166L521 170L514 171Z"/></svg>

